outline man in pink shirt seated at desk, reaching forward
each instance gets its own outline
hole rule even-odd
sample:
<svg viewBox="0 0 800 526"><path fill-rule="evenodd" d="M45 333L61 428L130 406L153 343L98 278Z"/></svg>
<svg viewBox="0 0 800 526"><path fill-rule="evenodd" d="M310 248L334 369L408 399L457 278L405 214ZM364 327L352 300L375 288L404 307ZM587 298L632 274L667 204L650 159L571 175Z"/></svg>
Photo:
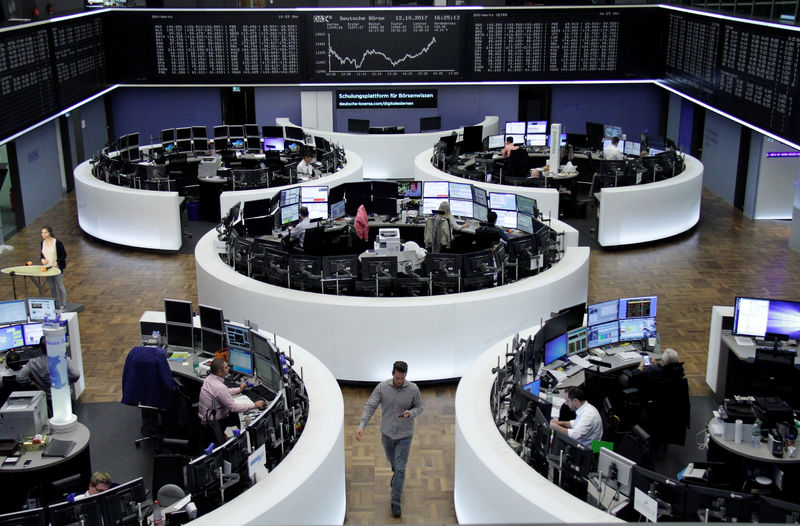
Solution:
<svg viewBox="0 0 800 526"><path fill-rule="evenodd" d="M225 386L225 377L230 372L230 366L222 358L211 360L210 371L203 387L200 388L198 400L198 416L205 426L211 426L216 421L222 431L227 427L239 427L239 415L251 409L262 409L267 403L264 400L250 403L238 403L233 395L242 393L247 389L247 382L242 382L239 387L228 388Z"/></svg>

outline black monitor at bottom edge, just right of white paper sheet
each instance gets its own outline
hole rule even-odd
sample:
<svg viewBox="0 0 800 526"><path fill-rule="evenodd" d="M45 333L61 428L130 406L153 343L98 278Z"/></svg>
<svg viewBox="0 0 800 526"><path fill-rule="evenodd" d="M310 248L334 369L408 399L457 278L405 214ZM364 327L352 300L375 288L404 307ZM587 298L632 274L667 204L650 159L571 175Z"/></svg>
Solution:
<svg viewBox="0 0 800 526"><path fill-rule="evenodd" d="M754 502L754 495L689 484L684 517L691 522L753 522Z"/></svg>

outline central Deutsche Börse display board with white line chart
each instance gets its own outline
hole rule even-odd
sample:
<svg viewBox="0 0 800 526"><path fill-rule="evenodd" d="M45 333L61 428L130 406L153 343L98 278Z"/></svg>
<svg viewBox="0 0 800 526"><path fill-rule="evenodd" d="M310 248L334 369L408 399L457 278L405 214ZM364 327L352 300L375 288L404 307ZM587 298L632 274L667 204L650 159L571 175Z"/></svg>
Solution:
<svg viewBox="0 0 800 526"><path fill-rule="evenodd" d="M420 10L315 14L311 81L459 80L464 18Z"/></svg>

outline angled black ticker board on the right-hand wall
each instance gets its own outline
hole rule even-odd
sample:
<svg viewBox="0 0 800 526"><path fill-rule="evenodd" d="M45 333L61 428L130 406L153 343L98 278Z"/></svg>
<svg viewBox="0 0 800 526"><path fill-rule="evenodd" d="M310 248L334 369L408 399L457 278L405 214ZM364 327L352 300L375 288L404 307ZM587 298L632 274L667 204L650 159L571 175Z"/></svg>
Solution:
<svg viewBox="0 0 800 526"><path fill-rule="evenodd" d="M665 84L800 143L800 32L670 13Z"/></svg>

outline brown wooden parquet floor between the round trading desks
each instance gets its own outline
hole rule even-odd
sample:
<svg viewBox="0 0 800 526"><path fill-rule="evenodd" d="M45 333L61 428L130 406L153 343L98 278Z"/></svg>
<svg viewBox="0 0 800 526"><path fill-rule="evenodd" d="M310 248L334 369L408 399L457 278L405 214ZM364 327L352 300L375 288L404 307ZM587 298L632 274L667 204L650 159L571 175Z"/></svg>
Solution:
<svg viewBox="0 0 800 526"><path fill-rule="evenodd" d="M70 194L6 242L14 250L0 253L0 265L37 260L44 224L53 227L68 252L64 275L68 301L85 306L79 314L86 375L82 403L116 402L121 398L125 355L138 343L142 312L161 310L165 297L197 303L194 255L188 250L164 254L95 240L78 227L75 197ZM700 222L693 230L648 246L592 251L589 302L657 294L662 346L680 353L691 393L705 394L711 307L733 305L737 295L800 299L800 254L789 249L789 230L785 221L753 222L705 191ZM0 279L0 294L3 299L12 297L8 277ZM387 363L387 378L390 372L391 363ZM413 363L408 377L414 379ZM452 495L455 390L455 384L423 388L426 410L417 420L402 522L456 523ZM371 388L344 387L343 391L345 522L396 521L390 515L391 472L382 458L377 423L370 425L361 442L352 438Z"/></svg>

